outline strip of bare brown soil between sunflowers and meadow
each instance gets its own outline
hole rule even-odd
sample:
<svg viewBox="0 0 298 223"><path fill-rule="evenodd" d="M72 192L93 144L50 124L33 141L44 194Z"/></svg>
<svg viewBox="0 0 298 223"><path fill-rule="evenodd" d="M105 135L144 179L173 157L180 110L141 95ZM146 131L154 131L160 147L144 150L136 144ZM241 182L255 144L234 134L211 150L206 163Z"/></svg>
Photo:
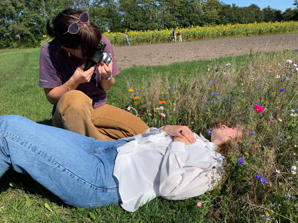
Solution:
<svg viewBox="0 0 298 223"><path fill-rule="evenodd" d="M298 34L246 37L223 40L203 40L113 47L119 68L133 65L166 65L173 62L211 59L286 49L297 49Z"/></svg>

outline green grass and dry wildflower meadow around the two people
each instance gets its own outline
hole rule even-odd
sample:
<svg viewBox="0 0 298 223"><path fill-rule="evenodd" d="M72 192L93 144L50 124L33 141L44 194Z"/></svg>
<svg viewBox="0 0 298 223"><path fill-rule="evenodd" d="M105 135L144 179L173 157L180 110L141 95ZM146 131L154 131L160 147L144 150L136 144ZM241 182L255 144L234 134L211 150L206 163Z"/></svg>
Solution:
<svg viewBox="0 0 298 223"><path fill-rule="evenodd" d="M291 109L298 109L298 75L296 70L292 75L284 68L289 66L287 59L298 63L297 55L295 51L278 51L131 67L115 78L108 103L133 106L150 126L187 125L207 138L206 130L215 118L248 126L242 141L235 142L237 148L232 149L232 156L242 157L246 163L236 165L227 158L221 190L182 201L158 197L134 213L119 205L84 210L63 204L28 175L10 169L0 179L0 222L266 222L262 219L266 212L271 222L297 222L297 198L284 197L298 196L297 175L290 171L291 166L298 166L298 117L290 116ZM18 114L51 125L52 106L38 87L39 49L2 50L0 60L0 115ZM134 92L129 93L130 88ZM138 100L133 99L135 92ZM219 95L210 95L215 92ZM156 110L159 100L166 101L162 104L164 118ZM264 113L254 111L258 102ZM273 125L268 123L269 116L274 117ZM269 184L257 181L257 174L268 178ZM21 183L22 188L11 187L11 182ZM198 201L203 202L201 208L196 206Z"/></svg>

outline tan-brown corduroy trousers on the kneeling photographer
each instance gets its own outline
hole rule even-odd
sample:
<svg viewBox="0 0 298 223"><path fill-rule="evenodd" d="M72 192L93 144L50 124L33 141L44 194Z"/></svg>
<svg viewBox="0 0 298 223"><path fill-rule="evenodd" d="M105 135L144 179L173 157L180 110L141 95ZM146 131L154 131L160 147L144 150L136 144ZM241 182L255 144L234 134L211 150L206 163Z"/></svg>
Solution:
<svg viewBox="0 0 298 223"><path fill-rule="evenodd" d="M149 128L123 109L108 104L92 108L92 99L78 90L66 92L60 98L53 125L103 141L134 136Z"/></svg>

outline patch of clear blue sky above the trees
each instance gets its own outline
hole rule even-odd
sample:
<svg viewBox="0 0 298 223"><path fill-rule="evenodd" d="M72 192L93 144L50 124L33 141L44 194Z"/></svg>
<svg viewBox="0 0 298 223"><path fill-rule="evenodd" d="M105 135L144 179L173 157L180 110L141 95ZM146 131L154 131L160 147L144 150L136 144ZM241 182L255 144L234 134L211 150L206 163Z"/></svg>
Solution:
<svg viewBox="0 0 298 223"><path fill-rule="evenodd" d="M295 6L293 5L294 0L290 1L283 1L283 0L264 0L264 1L256 1L256 0L250 0L250 1L241 1L241 0L222 0L225 4L232 5L232 3L235 3L237 6L249 6L250 4L256 4L261 9L267 7L270 5L271 8L280 9L282 11L285 11L287 8L294 9Z"/></svg>

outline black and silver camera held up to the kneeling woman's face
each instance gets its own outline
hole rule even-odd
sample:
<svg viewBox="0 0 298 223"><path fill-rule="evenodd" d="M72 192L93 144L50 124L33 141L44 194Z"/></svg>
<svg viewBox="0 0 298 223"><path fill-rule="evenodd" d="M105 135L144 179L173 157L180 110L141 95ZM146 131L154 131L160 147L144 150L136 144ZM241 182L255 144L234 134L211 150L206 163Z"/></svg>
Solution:
<svg viewBox="0 0 298 223"><path fill-rule="evenodd" d="M90 69L95 64L101 64L105 63L106 65L109 65L109 63L112 60L112 57L104 52L106 44L102 41L100 41L97 45L97 50L95 51L94 55L91 57L91 59L86 60L85 69Z"/></svg>

